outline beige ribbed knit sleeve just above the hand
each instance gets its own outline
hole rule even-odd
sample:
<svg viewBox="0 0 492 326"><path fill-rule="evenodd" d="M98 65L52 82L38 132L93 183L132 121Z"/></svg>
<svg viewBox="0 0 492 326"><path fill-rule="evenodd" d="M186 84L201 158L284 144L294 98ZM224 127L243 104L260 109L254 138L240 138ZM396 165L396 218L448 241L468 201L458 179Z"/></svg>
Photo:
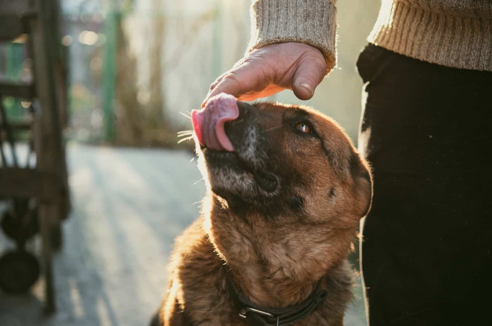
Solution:
<svg viewBox="0 0 492 326"><path fill-rule="evenodd" d="M336 65L337 8L334 0L254 0L251 39L246 53L282 42L318 48L328 74Z"/></svg>

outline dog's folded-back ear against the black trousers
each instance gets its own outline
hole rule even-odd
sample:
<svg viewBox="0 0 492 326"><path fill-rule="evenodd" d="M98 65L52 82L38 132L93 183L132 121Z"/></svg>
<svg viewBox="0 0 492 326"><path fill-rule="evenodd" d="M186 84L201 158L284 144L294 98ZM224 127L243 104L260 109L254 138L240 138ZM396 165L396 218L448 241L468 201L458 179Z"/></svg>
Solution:
<svg viewBox="0 0 492 326"><path fill-rule="evenodd" d="M372 202L372 176L369 164L356 152L353 152L350 157L350 172L358 198L359 216L362 218L369 213Z"/></svg>

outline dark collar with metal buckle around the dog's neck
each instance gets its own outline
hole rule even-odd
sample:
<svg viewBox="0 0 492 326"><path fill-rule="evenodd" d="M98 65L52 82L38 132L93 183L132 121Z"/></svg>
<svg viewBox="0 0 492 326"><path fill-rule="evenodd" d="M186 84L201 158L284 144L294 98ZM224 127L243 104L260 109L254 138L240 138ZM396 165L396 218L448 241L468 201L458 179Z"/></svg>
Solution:
<svg viewBox="0 0 492 326"><path fill-rule="evenodd" d="M225 265L226 269L228 266ZM290 326L307 317L316 310L327 297L327 291L323 290L318 282L316 288L309 294L306 300L285 308L263 308L250 302L246 296L238 290L232 276L226 271L227 291L234 306L239 311L239 316L249 326Z"/></svg>

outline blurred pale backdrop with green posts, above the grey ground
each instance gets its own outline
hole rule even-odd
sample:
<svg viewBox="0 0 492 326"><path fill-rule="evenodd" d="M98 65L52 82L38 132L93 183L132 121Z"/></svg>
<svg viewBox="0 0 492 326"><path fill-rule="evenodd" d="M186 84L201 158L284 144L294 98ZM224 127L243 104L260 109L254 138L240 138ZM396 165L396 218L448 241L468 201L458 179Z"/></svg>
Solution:
<svg viewBox="0 0 492 326"><path fill-rule="evenodd" d="M311 100L357 138L362 82L355 61L379 0L338 1L338 67ZM66 136L89 143L191 148L176 132L210 83L239 60L249 40L250 0L62 0L67 50ZM0 74L27 78L22 39L0 48ZM19 59L21 58L21 59ZM268 98L303 102L290 91ZM5 99L10 114L25 109ZM180 114L183 113L183 114Z"/></svg>

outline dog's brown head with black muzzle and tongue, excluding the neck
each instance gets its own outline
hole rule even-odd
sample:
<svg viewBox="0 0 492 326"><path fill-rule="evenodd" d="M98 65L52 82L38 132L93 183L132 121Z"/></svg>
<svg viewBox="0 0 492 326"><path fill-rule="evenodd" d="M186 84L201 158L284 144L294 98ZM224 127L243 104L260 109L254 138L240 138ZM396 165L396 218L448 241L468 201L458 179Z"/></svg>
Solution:
<svg viewBox="0 0 492 326"><path fill-rule="evenodd" d="M367 163L320 112L221 94L192 122L207 186L235 215L351 228L367 214Z"/></svg>

